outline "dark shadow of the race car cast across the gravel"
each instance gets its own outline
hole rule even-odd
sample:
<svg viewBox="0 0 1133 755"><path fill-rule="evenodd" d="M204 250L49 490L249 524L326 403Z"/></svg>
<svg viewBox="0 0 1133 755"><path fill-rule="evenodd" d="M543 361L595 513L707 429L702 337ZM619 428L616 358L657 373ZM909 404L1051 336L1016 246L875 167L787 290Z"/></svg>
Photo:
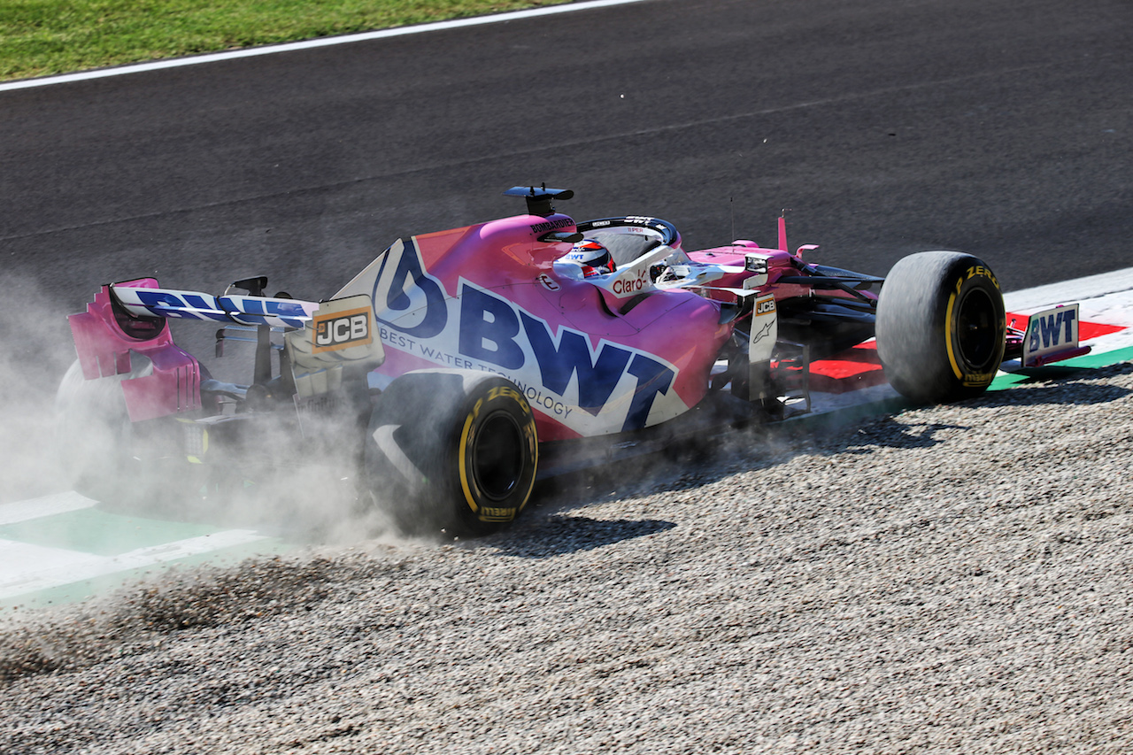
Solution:
<svg viewBox="0 0 1133 755"><path fill-rule="evenodd" d="M1133 373L1133 364L1107 367L1046 367L1000 390L954 406L973 409L1039 406L1094 406L1121 400L1133 390L1101 381ZM678 526L672 521L597 520L574 511L657 493L695 490L719 482L738 470L773 468L801 453L869 455L881 448L921 449L949 442L943 431L968 430L963 424L923 422L902 405L894 414L861 417L804 417L781 424L749 425L717 435L674 443L663 451L596 465L540 483L534 510L511 528L479 544L501 553L545 558L597 548L620 540L651 535Z"/></svg>

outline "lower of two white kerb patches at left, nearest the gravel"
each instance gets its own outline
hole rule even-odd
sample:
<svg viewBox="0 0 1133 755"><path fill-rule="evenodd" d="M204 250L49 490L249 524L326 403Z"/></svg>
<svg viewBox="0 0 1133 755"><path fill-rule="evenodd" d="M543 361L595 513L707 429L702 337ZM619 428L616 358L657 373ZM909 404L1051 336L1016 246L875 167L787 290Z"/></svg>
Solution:
<svg viewBox="0 0 1133 755"><path fill-rule="evenodd" d="M0 557L0 600L17 597L28 593L73 585L85 579L143 569L157 563L168 563L190 555L210 553L235 545L245 545L266 540L250 529L230 529L202 537L190 537L163 545L139 548L121 555L92 555L76 551L41 548L23 543L0 541L0 554L8 551L26 561L18 567L9 567Z"/></svg>

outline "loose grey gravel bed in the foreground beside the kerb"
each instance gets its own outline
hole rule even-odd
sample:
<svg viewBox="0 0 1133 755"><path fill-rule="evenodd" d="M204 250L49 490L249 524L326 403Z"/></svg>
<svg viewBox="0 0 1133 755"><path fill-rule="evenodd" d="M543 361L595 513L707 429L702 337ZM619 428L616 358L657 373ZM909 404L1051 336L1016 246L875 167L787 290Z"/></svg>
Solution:
<svg viewBox="0 0 1133 755"><path fill-rule="evenodd" d="M8 619L0 752L1133 752L1133 366Z"/></svg>

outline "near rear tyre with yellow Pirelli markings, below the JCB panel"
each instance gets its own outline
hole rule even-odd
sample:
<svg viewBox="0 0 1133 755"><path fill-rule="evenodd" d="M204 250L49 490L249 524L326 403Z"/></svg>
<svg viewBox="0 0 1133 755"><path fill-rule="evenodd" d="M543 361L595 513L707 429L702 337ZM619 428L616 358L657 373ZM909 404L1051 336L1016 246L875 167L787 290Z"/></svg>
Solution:
<svg viewBox="0 0 1133 755"><path fill-rule="evenodd" d="M483 372L410 372L378 397L366 435L370 495L410 534L487 534L513 520L535 484L531 407Z"/></svg>

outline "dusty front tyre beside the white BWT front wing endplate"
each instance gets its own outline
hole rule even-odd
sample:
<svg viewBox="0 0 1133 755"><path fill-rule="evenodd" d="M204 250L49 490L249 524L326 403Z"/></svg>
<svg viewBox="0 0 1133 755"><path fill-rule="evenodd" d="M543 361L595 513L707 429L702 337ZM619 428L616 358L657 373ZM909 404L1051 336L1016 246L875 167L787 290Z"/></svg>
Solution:
<svg viewBox="0 0 1133 755"><path fill-rule="evenodd" d="M987 390L1003 362L999 283L981 260L923 252L893 266L877 302L877 351L889 383L925 404Z"/></svg>

